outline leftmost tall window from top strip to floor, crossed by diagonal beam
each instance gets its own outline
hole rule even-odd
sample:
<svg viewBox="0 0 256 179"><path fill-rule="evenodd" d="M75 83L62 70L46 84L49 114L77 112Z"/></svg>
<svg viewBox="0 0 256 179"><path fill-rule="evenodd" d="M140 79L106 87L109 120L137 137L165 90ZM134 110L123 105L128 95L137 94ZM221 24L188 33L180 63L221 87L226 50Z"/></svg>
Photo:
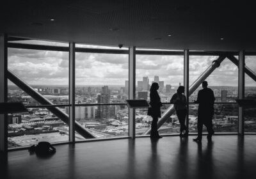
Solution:
<svg viewBox="0 0 256 179"><path fill-rule="evenodd" d="M68 45L38 40L15 43ZM21 81L8 80L8 102L38 106L42 105L39 98L45 98L49 105L68 104L68 52L8 48L8 72ZM31 88L23 91L19 88L21 83ZM31 97L31 91L38 92L38 97ZM51 109L29 107L28 113L8 114L8 147L30 146L39 141L68 141L65 107L59 107L57 113ZM60 113L65 119L58 118Z"/></svg>

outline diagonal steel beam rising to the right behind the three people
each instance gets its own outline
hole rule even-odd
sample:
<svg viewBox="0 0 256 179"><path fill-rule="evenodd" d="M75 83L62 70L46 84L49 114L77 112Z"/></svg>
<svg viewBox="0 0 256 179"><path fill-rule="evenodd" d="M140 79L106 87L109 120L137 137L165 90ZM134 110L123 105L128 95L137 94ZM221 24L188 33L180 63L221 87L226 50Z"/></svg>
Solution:
<svg viewBox="0 0 256 179"><path fill-rule="evenodd" d="M219 56L218 59L212 61L212 65L209 66L204 73L202 73L200 75L200 77L198 77L198 79L196 79L196 81L189 87L189 96L198 88L198 86L200 86L200 84L202 84L203 81L205 81L205 79L207 79L207 77L209 77L209 75L211 75L211 73L220 66L220 63L226 58L225 55L223 56ZM173 112L175 111L173 105L170 106L162 115L161 119L158 121L157 123L157 128L161 127L161 125L163 125L163 123L168 120L168 118L170 118L170 116L173 114ZM148 128L148 130L146 132L144 132L144 134L150 134L151 128Z"/></svg>

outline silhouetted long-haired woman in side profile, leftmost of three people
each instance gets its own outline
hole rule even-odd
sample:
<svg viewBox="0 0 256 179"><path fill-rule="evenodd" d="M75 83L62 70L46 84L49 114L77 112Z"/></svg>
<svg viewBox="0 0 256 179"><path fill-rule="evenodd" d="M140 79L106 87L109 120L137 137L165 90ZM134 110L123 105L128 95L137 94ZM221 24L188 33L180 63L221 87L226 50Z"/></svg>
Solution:
<svg viewBox="0 0 256 179"><path fill-rule="evenodd" d="M157 93L157 89L159 89L158 83L153 82L150 88L150 107L148 107L148 116L153 118L150 134L151 138L161 138L157 131L157 121L158 118L161 118L160 107L162 106L162 103Z"/></svg>

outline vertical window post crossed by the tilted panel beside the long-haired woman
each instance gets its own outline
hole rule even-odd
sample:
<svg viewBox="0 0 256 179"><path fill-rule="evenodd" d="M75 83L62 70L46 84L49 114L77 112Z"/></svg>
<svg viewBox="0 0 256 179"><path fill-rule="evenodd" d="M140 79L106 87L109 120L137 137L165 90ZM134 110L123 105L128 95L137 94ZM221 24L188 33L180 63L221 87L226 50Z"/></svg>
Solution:
<svg viewBox="0 0 256 179"><path fill-rule="evenodd" d="M135 99L135 51L129 47L129 100ZM135 139L135 109L129 108L129 137Z"/></svg>

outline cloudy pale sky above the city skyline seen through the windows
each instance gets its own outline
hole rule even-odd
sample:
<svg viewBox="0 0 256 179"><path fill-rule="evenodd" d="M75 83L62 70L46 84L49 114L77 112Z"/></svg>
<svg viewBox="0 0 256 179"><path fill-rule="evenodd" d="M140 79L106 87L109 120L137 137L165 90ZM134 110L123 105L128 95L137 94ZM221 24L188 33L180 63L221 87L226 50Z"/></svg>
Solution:
<svg viewBox="0 0 256 179"><path fill-rule="evenodd" d="M81 46L82 47L82 46ZM84 46L87 47L87 46ZM94 47L92 45L88 47ZM102 48L102 47L100 47ZM189 84L192 84L217 56L189 57ZM246 65L256 72L256 57L246 56ZM68 52L8 49L8 69L31 85L68 85ZM136 56L136 85L147 76L165 84L183 84L183 56ZM77 85L125 85L128 80L127 54L76 53ZM237 86L238 69L228 59L207 78L209 86ZM246 75L246 86L256 86Z"/></svg>

